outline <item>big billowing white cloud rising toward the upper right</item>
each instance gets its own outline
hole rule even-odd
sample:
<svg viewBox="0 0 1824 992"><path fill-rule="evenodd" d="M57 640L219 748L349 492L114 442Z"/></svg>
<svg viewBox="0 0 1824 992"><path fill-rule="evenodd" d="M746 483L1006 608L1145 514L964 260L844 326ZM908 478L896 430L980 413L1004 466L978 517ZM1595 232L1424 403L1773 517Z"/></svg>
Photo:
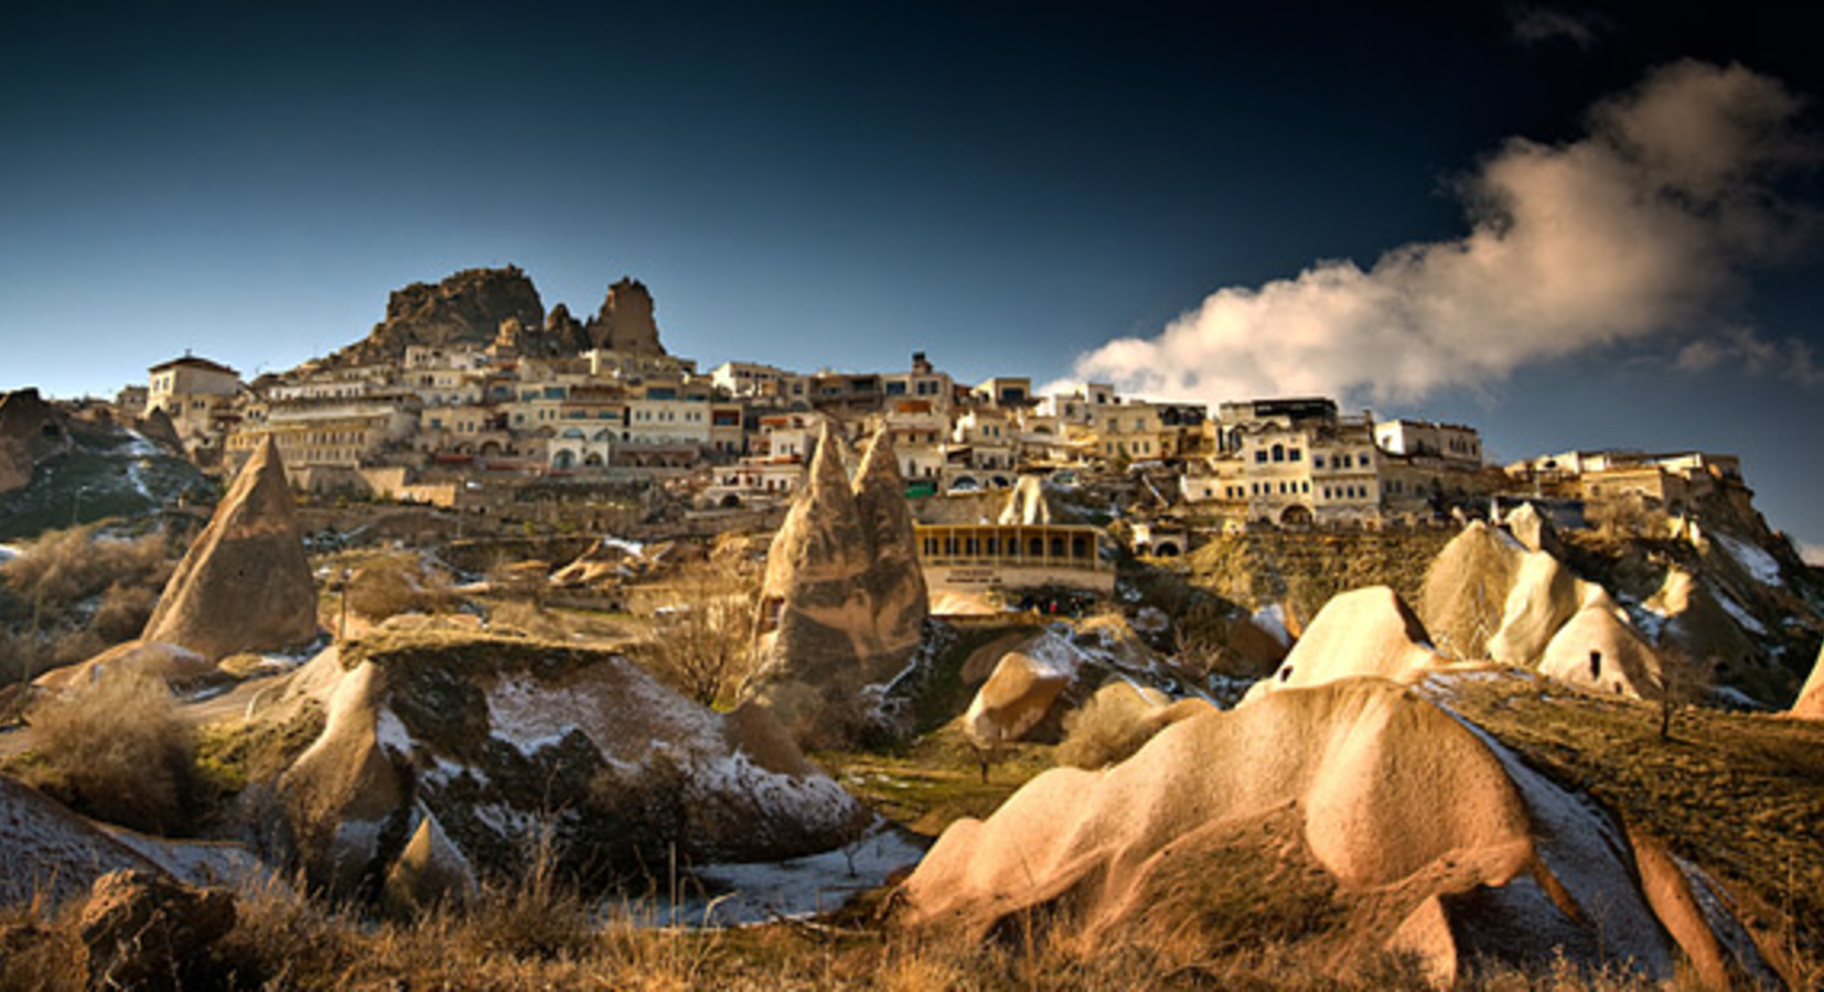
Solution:
<svg viewBox="0 0 1824 992"><path fill-rule="evenodd" d="M1603 345L1669 336L1689 350L1742 274L1809 228L1769 186L1813 159L1797 113L1780 82L1740 66L1662 67L1598 104L1587 137L1490 155L1457 186L1465 237L1217 290L1156 337L1080 356L1074 376L1164 399L1414 401ZM1742 345L1680 363L1715 367L1729 348Z"/></svg>

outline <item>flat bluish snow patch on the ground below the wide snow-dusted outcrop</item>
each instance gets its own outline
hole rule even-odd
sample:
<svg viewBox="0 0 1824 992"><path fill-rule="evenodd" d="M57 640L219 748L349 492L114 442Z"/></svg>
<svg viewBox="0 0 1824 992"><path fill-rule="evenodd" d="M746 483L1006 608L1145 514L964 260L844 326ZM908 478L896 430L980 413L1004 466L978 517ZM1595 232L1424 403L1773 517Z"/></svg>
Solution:
<svg viewBox="0 0 1824 992"><path fill-rule="evenodd" d="M668 906L655 901L657 926L741 926L773 917L830 912L925 857L910 833L876 822L861 841L834 852L759 864L706 864L693 873L708 892Z"/></svg>

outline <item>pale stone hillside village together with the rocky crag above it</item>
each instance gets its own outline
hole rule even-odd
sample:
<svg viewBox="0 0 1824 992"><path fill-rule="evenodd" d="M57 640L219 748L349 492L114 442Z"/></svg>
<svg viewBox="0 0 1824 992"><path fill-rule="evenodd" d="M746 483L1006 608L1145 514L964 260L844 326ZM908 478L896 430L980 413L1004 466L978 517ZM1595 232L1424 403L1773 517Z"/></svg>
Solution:
<svg viewBox="0 0 1824 992"><path fill-rule="evenodd" d="M343 352L252 383L204 356L120 390L124 419L162 412L199 465L232 474L266 439L312 494L420 501L472 514L533 498L657 485L695 511L779 507L804 483L824 423L894 434L912 498L1012 489L1021 476L1145 480L1142 509L1189 551L1200 529L1412 525L1490 500L1580 507L1636 500L1674 516L1747 507L1740 461L1715 452L1572 450L1485 463L1474 427L1375 419L1326 398L1235 398L1215 408L1120 396L1105 383L1036 394L1027 376L958 383L927 354L903 370L710 370L660 343L651 294L613 284L587 323L549 314L518 270L469 270L394 294Z"/></svg>

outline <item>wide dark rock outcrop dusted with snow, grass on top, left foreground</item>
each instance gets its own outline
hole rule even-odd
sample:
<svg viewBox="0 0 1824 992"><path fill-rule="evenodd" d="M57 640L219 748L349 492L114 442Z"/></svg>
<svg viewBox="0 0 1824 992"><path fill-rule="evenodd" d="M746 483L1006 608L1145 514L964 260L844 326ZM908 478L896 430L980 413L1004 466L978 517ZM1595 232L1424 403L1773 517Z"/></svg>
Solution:
<svg viewBox="0 0 1824 992"><path fill-rule="evenodd" d="M764 711L724 717L609 651L381 631L294 691L326 722L277 788L310 881L339 894L460 897L520 872L542 835L562 872L609 883L673 852L830 850L868 821Z"/></svg>

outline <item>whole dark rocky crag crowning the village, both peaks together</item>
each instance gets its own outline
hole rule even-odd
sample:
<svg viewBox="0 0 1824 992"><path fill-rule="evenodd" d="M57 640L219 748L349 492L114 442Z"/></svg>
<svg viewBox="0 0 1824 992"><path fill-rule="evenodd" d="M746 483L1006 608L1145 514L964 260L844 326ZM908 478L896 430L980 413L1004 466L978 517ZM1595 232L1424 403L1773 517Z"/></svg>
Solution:
<svg viewBox="0 0 1824 992"><path fill-rule="evenodd" d="M589 348L664 354L653 295L635 279L607 288L587 323L558 303L545 314L538 288L518 266L467 268L441 283L412 283L387 299L387 319L361 341L330 356L334 365L399 361L412 345L502 345L529 357L576 356Z"/></svg>

